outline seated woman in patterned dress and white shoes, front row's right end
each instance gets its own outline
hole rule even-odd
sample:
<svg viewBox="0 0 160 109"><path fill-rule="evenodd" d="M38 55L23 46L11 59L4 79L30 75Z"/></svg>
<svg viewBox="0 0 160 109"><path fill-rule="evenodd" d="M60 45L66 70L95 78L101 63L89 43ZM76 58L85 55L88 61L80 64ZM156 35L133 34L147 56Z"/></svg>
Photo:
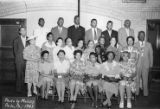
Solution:
<svg viewBox="0 0 160 109"><path fill-rule="evenodd" d="M120 104L119 108L124 108L124 94L127 92L127 108L132 108L131 104L131 92L135 92L135 77L136 67L129 61L129 52L123 52L123 60L120 62L121 78L119 92L120 92Z"/></svg>

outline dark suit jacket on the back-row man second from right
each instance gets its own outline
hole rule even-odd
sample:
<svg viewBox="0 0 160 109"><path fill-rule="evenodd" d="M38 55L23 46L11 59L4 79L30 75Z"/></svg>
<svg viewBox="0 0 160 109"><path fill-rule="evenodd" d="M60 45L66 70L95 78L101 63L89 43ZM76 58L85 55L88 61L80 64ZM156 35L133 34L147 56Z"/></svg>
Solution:
<svg viewBox="0 0 160 109"><path fill-rule="evenodd" d="M102 37L105 38L105 47L108 47L110 45L110 39L111 37L115 37L118 41L118 32L115 30L112 30L111 36L108 33L108 30L105 30L102 32Z"/></svg>

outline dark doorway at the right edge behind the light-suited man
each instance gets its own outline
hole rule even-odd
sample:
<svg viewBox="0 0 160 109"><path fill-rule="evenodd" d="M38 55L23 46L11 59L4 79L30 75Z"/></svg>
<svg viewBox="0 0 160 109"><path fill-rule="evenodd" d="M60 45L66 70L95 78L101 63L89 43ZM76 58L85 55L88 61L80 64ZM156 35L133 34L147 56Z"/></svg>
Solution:
<svg viewBox="0 0 160 109"><path fill-rule="evenodd" d="M160 19L147 20L147 40L153 48L152 78L160 80Z"/></svg>

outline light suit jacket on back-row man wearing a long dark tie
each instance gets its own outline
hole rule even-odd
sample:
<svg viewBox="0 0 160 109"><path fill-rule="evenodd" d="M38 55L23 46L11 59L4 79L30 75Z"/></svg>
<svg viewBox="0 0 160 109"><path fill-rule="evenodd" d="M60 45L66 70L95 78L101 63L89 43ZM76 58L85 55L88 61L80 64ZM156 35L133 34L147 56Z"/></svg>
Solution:
<svg viewBox="0 0 160 109"><path fill-rule="evenodd" d="M102 30L97 28L97 37L99 39L99 37L101 36ZM89 40L94 40L94 35L92 33L92 29L88 29L85 33L85 43L87 43Z"/></svg>

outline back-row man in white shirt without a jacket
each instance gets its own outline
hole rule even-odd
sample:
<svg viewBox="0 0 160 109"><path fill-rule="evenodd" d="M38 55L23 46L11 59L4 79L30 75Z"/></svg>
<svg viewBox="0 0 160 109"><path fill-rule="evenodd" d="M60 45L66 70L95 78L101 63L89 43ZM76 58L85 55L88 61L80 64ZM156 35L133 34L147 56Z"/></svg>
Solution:
<svg viewBox="0 0 160 109"><path fill-rule="evenodd" d="M42 44L46 42L46 36L49 32L49 29L44 27L45 21L44 18L39 18L38 20L38 28L34 30L33 35L37 37L36 46L39 48L42 47Z"/></svg>

